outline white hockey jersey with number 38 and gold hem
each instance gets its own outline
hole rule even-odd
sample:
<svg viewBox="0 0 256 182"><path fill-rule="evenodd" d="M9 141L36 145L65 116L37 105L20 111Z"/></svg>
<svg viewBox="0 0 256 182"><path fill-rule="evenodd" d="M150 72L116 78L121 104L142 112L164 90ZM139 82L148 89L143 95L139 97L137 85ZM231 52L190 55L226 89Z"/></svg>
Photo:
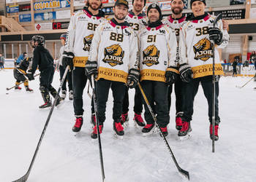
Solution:
<svg viewBox="0 0 256 182"><path fill-rule="evenodd" d="M188 63L192 67L194 78L213 74L213 55L215 57L215 74L222 75L223 69L219 60L219 52L213 47L209 39L208 28L212 27L214 15L207 15L201 20L189 20L181 27L179 40L179 63ZM229 41L227 30L223 30L222 20L217 22L222 31L222 44L217 48L226 47Z"/></svg>

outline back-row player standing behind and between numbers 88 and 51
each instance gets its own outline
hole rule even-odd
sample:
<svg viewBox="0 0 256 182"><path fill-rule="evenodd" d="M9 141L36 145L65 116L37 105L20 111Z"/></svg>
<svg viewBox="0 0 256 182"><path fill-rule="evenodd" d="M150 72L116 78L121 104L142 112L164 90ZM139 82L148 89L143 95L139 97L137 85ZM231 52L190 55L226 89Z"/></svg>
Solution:
<svg viewBox="0 0 256 182"><path fill-rule="evenodd" d="M129 25L133 28L135 33L138 34L141 28L146 25L146 14L143 12L143 7L146 5L146 0L132 0L132 9L128 12L125 20L129 23ZM135 116L133 118L135 124L139 127L144 127L145 122L141 117L141 113L143 110L142 103L142 95L138 87L135 87L135 106L133 107L133 111L135 112ZM129 95L128 88L124 95L123 101L123 111L121 114L122 123L124 126L128 125L128 111L129 111Z"/></svg>

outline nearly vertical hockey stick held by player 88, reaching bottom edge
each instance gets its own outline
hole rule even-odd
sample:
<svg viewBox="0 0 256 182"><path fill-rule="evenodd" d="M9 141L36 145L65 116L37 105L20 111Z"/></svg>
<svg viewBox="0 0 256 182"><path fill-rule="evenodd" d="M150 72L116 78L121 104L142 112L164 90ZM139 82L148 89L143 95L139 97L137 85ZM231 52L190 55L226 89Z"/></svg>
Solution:
<svg viewBox="0 0 256 182"><path fill-rule="evenodd" d="M92 87L92 98L94 98L94 112L95 112L95 119L97 124L97 135L98 135L98 141L99 141L99 159L100 159L100 165L102 170L102 181L105 180L105 173L104 173L104 165L103 165L103 157L102 157L102 142L100 140L100 133L99 133L99 120L98 120L98 108L97 108L97 102L96 102L96 90L95 90L95 84L94 84L94 75L91 75L91 87Z"/></svg>

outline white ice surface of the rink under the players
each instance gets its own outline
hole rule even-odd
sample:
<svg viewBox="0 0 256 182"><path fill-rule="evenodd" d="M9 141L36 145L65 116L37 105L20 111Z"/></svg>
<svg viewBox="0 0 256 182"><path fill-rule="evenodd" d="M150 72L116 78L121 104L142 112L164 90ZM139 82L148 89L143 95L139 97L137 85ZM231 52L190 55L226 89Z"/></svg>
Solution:
<svg viewBox="0 0 256 182"><path fill-rule="evenodd" d="M219 95L219 141L216 152L211 152L208 134L208 106L200 87L194 103L192 137L178 141L175 129L175 108L171 108L167 141L190 181L256 181L256 87L249 78L222 77ZM47 111L40 111L42 104L39 78L29 82L34 93L7 91L15 79L12 70L0 71L0 181L10 182L26 173L39 141ZM53 87L59 87L56 72ZM37 159L28 181L80 182L102 181L98 141L92 140L91 100L84 90L84 124L80 135L72 133L74 114L72 102L65 100L50 118ZM6 94L9 93L9 94ZM187 181L173 163L162 138L158 134L143 137L133 126L133 96L129 94L129 130L123 140L113 138L112 107L110 92L107 119L102 132L102 151L105 181L108 182L167 182ZM173 106L175 102L174 94Z"/></svg>

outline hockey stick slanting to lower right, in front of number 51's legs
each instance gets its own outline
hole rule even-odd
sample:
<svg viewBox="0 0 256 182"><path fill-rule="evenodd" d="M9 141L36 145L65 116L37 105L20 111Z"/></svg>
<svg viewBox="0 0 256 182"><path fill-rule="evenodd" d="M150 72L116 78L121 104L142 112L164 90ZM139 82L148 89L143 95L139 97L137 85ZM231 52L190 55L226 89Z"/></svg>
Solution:
<svg viewBox="0 0 256 182"><path fill-rule="evenodd" d="M176 165L178 171L179 171L182 175L185 175L185 176L189 179L189 172L188 172L187 170L183 170L183 169L181 169L181 167L179 167L178 162L176 161L176 158L174 157L173 151L170 149L169 143L167 142L164 133L163 133L162 130L160 129L159 125L157 124L157 117L154 115L154 111L153 111L153 109L151 108L150 104L148 103L148 99L146 98L146 95L145 95L145 93L144 93L142 87L140 86L140 83L139 83L139 82L138 82L138 87L140 88L140 92L141 92L141 94L143 95L143 98L144 98L144 100L145 100L145 102L146 102L146 105L148 106L148 110L150 111L150 113L151 113L151 115L152 115L152 117L153 117L153 119L154 119L154 122L156 123L157 128L160 130L160 132L161 132L161 134L162 134L162 138L163 138L163 140L165 141L165 145L167 146L167 149L168 149L168 151L170 152L170 155L172 156L173 161L174 161L174 163L175 163L175 165Z"/></svg>

